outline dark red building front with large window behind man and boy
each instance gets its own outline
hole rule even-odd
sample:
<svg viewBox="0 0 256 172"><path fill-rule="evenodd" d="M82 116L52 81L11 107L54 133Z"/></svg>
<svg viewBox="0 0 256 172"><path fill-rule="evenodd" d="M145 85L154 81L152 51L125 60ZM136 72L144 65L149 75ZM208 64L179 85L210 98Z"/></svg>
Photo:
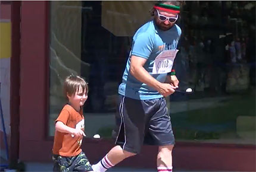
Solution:
<svg viewBox="0 0 256 172"><path fill-rule="evenodd" d="M95 163L112 148L117 88L132 36L151 20L153 3L5 3L11 14L10 112L3 111L10 117L10 160L51 162L54 120L65 104L61 88L71 74L89 82L84 107L89 137L83 150ZM252 1L186 1L183 6L176 73L180 88L195 92L167 98L177 169L256 170L252 14ZM93 139L95 134L101 139ZM155 167L156 155L155 146L143 146L141 154L118 165Z"/></svg>

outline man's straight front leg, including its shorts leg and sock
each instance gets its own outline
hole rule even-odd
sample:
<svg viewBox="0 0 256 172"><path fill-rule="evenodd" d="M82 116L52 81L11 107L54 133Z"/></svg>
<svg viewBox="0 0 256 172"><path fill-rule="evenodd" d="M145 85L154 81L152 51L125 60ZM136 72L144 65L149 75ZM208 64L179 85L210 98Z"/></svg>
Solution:
<svg viewBox="0 0 256 172"><path fill-rule="evenodd" d="M148 103L148 102L147 102ZM157 170L160 172L172 171L171 152L175 144L173 130L171 129L171 120L166 106L166 99L159 98L151 100L151 103L158 107L157 112L151 116L149 121L149 130L145 137L146 143L158 145ZM149 103L148 103L149 104ZM152 105L151 105L152 109Z"/></svg>

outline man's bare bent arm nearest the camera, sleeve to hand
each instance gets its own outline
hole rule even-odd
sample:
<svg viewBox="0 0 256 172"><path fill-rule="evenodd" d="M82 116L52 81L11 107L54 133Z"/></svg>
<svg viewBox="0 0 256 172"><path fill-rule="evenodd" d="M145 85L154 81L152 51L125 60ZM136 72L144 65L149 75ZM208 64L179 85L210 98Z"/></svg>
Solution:
<svg viewBox="0 0 256 172"><path fill-rule="evenodd" d="M143 68L143 65L146 63L145 58L141 58L138 56L132 55L130 58L130 74L133 75L136 79L139 81L145 83L149 87L155 88L155 90L159 91L160 94L164 95L164 97L167 97L170 94L174 93L173 85L161 83L157 81L154 77L152 77L145 68Z"/></svg>

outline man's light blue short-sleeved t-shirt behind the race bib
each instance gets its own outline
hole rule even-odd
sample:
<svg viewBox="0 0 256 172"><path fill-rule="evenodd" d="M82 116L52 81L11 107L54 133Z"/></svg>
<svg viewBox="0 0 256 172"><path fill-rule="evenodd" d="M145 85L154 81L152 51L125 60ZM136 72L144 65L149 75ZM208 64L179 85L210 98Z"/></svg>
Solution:
<svg viewBox="0 0 256 172"><path fill-rule="evenodd" d="M176 49L181 34L182 30L176 24L170 30L162 31L158 29L154 21L149 21L139 28L133 36L130 57L135 55L147 59L143 67L157 81L164 82L167 74L152 74L155 58L163 50ZM163 97L157 90L138 81L138 79L130 74L130 57L127 60L123 81L119 85L118 93L138 100L151 100Z"/></svg>

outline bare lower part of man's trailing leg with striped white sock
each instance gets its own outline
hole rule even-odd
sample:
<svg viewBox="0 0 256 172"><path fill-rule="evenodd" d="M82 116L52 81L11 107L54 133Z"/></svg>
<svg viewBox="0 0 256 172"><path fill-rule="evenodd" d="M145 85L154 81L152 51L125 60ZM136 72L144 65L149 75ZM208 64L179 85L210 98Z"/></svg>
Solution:
<svg viewBox="0 0 256 172"><path fill-rule="evenodd" d="M112 148L110 152L108 152L108 154L105 155L101 161L99 161L99 163L92 165L92 169L96 172L104 172L108 170L108 168L113 167L115 164L120 163L125 158L131 157L133 155L136 154L124 151L124 149L122 149L119 145L114 146L114 148Z"/></svg>

